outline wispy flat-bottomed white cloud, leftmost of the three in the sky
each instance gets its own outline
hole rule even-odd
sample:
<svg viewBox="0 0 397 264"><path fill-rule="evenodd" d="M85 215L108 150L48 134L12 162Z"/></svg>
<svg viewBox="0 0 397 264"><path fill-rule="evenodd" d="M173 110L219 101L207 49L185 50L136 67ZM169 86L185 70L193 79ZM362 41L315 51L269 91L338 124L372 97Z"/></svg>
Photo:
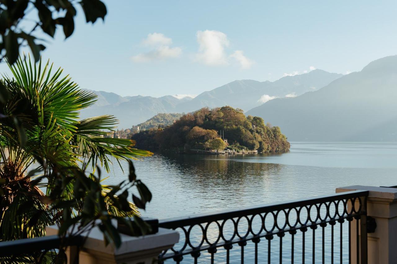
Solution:
<svg viewBox="0 0 397 264"><path fill-rule="evenodd" d="M172 39L161 33L148 34L142 43L145 46L154 47L154 50L132 56L131 59L135 62L151 62L177 58L182 54L182 49L180 47L170 47Z"/></svg>

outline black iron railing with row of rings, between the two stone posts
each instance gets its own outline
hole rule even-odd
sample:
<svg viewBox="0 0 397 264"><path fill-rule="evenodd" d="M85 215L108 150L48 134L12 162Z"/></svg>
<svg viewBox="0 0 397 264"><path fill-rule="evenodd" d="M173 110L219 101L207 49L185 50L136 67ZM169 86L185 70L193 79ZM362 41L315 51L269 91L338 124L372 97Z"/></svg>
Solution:
<svg viewBox="0 0 397 264"><path fill-rule="evenodd" d="M181 238L172 249L162 252L158 261L352 263L355 259L366 264L367 197L368 191L349 191L160 220L159 227L179 230ZM352 226L355 241L351 238ZM260 243L263 238L264 243Z"/></svg>

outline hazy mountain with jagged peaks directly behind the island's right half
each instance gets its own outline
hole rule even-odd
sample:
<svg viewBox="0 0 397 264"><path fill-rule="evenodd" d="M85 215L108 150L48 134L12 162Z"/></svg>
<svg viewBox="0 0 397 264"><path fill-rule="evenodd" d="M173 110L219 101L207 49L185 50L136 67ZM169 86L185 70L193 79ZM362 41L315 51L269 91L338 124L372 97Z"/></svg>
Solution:
<svg viewBox="0 0 397 264"><path fill-rule="evenodd" d="M245 111L261 105L264 95L274 97L299 96L308 91L318 90L333 80L342 77L337 73L314 70L295 76L286 76L275 82L258 82L255 80L235 80L214 90L203 92L189 103L177 106L178 112L190 112L201 107L221 107L230 105Z"/></svg>

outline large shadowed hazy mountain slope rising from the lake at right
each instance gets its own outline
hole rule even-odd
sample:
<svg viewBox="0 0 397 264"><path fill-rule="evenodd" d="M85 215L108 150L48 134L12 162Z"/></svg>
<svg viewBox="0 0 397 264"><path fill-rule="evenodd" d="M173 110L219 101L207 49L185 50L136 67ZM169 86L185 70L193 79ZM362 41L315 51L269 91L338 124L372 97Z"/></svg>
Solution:
<svg viewBox="0 0 397 264"><path fill-rule="evenodd" d="M397 140L397 56L369 63L315 92L246 114L280 126L291 141Z"/></svg>

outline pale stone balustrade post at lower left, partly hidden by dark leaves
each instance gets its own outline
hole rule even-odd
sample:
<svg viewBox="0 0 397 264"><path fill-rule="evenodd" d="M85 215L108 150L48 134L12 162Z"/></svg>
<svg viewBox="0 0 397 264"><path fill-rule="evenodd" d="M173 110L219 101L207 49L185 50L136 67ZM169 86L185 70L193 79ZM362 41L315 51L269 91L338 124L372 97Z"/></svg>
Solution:
<svg viewBox="0 0 397 264"><path fill-rule="evenodd" d="M47 235L58 235L58 226L48 226ZM83 234L84 235L84 234ZM164 250L170 249L179 241L179 233L175 230L159 228L151 235L132 237L121 235L121 246L105 246L103 234L98 228L93 228L79 251L79 263L84 264L152 264ZM66 250L68 264L70 249Z"/></svg>

